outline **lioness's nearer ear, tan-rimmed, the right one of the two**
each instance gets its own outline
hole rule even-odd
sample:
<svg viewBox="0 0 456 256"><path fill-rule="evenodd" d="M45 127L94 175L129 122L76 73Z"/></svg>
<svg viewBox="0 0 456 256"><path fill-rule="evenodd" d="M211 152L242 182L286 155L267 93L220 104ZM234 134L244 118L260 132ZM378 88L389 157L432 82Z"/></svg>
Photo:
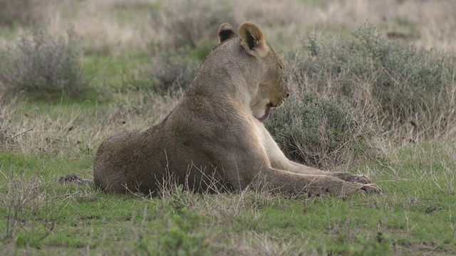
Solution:
<svg viewBox="0 0 456 256"><path fill-rule="evenodd" d="M263 58L271 50L264 39L263 32L254 23L242 23L239 26L239 38L247 53L255 57Z"/></svg>

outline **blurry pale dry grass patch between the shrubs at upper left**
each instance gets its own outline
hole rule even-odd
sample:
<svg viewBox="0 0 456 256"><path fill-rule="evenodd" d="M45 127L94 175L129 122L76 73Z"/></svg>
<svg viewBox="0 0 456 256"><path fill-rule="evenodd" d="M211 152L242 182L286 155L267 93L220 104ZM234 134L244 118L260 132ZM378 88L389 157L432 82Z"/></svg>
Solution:
<svg viewBox="0 0 456 256"><path fill-rule="evenodd" d="M83 38L87 53L144 52L155 36L149 26L147 11L155 1L47 2L41 11L46 16L43 22L46 31L51 36L65 36L68 28L73 28L76 35ZM0 46L8 46L7 41L1 41Z"/></svg>

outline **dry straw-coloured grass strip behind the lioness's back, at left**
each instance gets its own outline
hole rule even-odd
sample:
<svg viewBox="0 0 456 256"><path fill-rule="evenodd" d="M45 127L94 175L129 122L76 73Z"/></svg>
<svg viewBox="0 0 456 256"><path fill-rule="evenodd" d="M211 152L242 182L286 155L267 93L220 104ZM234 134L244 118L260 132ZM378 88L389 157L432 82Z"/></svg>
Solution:
<svg viewBox="0 0 456 256"><path fill-rule="evenodd" d="M157 124L177 105L181 96L182 92L165 96L153 92L116 93L113 97L117 103L87 110L85 105L92 103L29 108L24 100L26 95L16 95L3 113L11 119L11 129L16 131L16 150L56 156L70 154L78 158L86 151L93 156L100 142L115 133ZM43 107L46 110L43 111Z"/></svg>

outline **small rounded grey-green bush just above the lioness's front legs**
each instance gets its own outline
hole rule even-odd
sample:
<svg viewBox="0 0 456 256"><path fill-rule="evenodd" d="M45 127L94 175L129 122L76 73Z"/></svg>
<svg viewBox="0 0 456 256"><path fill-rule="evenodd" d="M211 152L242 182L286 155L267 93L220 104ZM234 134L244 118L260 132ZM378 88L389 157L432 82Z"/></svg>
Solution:
<svg viewBox="0 0 456 256"><path fill-rule="evenodd" d="M266 128L289 159L319 169L339 169L374 152L375 130L362 113L311 93L290 97Z"/></svg>

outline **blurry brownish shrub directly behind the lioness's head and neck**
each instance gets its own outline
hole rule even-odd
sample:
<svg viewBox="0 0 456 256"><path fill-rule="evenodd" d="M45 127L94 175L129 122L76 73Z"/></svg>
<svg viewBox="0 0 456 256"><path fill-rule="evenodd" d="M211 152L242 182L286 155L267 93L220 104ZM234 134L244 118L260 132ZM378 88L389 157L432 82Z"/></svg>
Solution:
<svg viewBox="0 0 456 256"><path fill-rule="evenodd" d="M228 1L165 1L151 11L157 51L148 72L155 92L187 89L199 65L217 45L221 23L235 23Z"/></svg>

